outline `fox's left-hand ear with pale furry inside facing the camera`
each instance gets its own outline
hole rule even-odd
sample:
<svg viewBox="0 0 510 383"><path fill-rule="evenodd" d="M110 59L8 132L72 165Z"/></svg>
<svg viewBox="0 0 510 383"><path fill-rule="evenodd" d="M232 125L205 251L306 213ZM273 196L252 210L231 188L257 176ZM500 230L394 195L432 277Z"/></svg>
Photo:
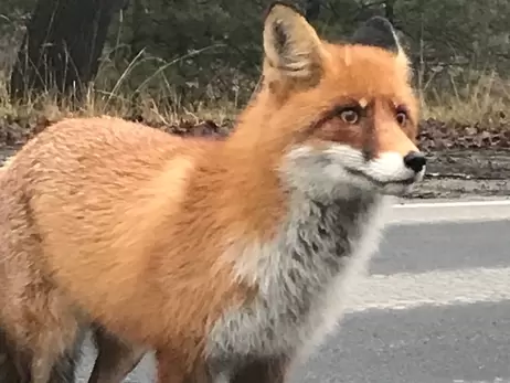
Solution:
<svg viewBox="0 0 510 383"><path fill-rule="evenodd" d="M293 7L275 2L264 22L264 76L317 83L322 72L322 44L314 28Z"/></svg>

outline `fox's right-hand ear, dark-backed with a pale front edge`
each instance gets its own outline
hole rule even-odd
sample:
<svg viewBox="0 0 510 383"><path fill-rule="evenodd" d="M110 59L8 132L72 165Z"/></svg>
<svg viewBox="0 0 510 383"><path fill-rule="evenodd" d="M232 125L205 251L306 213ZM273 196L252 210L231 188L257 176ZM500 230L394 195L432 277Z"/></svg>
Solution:
<svg viewBox="0 0 510 383"><path fill-rule="evenodd" d="M353 44L378 46L393 52L397 56L399 62L408 67L407 55L402 49L395 29L385 18L376 15L366 20L354 32L351 42Z"/></svg>

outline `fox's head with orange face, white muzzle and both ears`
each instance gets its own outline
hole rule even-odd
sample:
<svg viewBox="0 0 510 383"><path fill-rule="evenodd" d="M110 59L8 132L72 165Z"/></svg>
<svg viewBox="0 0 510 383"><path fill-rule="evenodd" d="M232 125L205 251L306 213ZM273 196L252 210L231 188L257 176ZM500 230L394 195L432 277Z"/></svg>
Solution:
<svg viewBox="0 0 510 383"><path fill-rule="evenodd" d="M276 2L264 23L257 139L284 153L277 167L302 192L402 194L423 178L426 162L415 146L418 104L410 77L386 19L374 17L334 44Z"/></svg>

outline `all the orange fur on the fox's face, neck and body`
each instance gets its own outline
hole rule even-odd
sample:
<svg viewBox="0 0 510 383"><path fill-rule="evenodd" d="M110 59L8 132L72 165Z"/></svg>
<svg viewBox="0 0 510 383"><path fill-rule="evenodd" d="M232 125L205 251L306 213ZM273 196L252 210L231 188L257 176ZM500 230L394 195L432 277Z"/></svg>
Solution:
<svg viewBox="0 0 510 383"><path fill-rule="evenodd" d="M276 171L284 155L331 142L372 158L417 150L404 62L380 47L322 42L301 19L274 12L295 28L295 47L310 50L310 62L281 74L266 47L264 86L226 140L117 118L66 119L2 171L0 321L45 355L40 363L51 364L94 321L159 350L160 382L205 374L211 326L257 294L224 255L233 242L274 238L289 209ZM371 117L350 124L331 115L353 103L371 105ZM402 125L396 106L408 111Z"/></svg>

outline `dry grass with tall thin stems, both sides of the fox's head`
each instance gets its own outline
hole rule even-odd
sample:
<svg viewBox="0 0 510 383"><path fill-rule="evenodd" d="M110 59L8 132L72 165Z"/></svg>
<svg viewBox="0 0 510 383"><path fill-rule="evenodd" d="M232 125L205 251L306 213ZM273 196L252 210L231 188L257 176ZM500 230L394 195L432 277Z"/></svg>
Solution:
<svg viewBox="0 0 510 383"><path fill-rule="evenodd" d="M171 62L163 62L142 50L127 62L121 58L126 56L126 46L119 43L123 28L118 30L114 46L105 49L96 81L88 87L79 107L65 102L59 105L51 93L12 105L7 92L8 66L14 61L24 31L20 26L24 23L23 17L17 14L13 19L17 20L13 23L17 26L15 33L12 36L0 36L0 119L2 116L13 119L44 116L54 120L67 116L111 115L124 118L136 116L145 121L167 126L179 124L182 119L191 123L210 119L217 125L225 125L244 106L238 102L243 97L236 95L229 99L215 97L213 102L205 99L190 105L189 102L182 102L172 85L172 68L177 64L192 60L215 46L204 47ZM417 77L424 119L457 123L453 126L481 124L493 125L490 127L493 128L510 125L506 121L506 115L510 110L510 81L501 78L496 72L449 67L435 72L423 81L425 76L419 68ZM255 85L237 77L225 78L225 83L233 84L234 79L236 87L241 89L252 89ZM217 89L214 92L217 96ZM245 91L244 99L249 97L246 93L249 91ZM132 100L134 94L139 95L136 102Z"/></svg>

